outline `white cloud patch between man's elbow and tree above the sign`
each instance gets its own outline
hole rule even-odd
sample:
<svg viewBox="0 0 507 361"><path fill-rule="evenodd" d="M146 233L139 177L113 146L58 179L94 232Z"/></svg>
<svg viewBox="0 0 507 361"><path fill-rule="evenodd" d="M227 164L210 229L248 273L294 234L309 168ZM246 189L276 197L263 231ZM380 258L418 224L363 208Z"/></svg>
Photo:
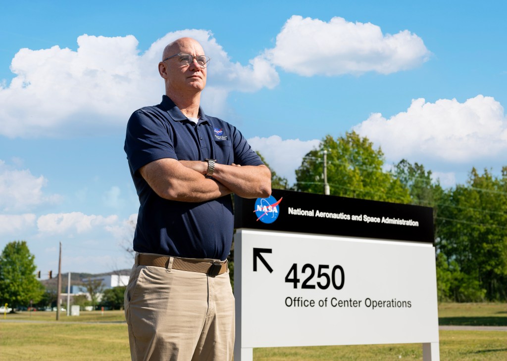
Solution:
<svg viewBox="0 0 507 361"><path fill-rule="evenodd" d="M316 148L320 140L285 139L272 135L268 138L253 137L248 143L259 151L277 175L287 178L289 184L296 181L294 171L301 166L303 156Z"/></svg>

